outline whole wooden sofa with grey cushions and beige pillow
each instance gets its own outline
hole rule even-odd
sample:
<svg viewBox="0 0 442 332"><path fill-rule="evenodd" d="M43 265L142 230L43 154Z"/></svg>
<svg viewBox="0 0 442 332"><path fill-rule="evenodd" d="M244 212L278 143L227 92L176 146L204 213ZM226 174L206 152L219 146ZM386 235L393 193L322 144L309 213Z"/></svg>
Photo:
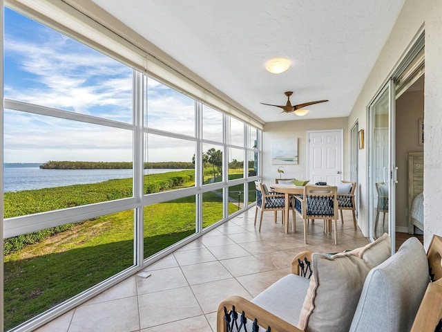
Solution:
<svg viewBox="0 0 442 332"><path fill-rule="evenodd" d="M435 331L442 308L423 304L423 299L430 279L442 277L442 238L433 237L427 254L414 237L392 256L390 248L390 237L384 234L351 252L301 252L292 262L292 274L251 301L237 296L225 299L218 307L218 332L244 331L242 324L247 331L258 331L257 326L266 331L270 326L267 331L272 332ZM300 275L306 267L307 277L312 270L310 279ZM431 289L442 290L442 285ZM429 292L433 302L442 298L442 291L440 297ZM419 309L423 305L433 308L432 317L427 317L425 308ZM415 317L419 323L412 327Z"/></svg>

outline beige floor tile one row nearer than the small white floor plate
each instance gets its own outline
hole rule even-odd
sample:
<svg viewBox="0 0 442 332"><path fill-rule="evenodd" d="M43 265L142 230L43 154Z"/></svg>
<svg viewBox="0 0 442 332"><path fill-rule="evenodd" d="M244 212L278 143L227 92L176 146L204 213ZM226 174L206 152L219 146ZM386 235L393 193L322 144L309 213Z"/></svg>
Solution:
<svg viewBox="0 0 442 332"><path fill-rule="evenodd" d="M191 288L138 296L141 329L202 315Z"/></svg>

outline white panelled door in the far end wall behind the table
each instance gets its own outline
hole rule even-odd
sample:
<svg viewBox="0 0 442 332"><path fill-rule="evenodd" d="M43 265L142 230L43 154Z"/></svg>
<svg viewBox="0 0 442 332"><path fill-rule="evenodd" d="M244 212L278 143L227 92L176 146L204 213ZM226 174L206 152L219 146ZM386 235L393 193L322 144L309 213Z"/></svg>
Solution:
<svg viewBox="0 0 442 332"><path fill-rule="evenodd" d="M343 176L343 130L307 131L310 183L337 185Z"/></svg>

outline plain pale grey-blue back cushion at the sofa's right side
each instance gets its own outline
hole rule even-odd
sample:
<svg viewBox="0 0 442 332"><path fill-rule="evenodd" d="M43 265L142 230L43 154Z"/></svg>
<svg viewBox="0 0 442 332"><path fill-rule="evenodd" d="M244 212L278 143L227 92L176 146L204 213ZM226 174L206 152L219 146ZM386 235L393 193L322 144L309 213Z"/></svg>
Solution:
<svg viewBox="0 0 442 332"><path fill-rule="evenodd" d="M367 275L350 331L410 331L428 282L425 250L412 237Z"/></svg>

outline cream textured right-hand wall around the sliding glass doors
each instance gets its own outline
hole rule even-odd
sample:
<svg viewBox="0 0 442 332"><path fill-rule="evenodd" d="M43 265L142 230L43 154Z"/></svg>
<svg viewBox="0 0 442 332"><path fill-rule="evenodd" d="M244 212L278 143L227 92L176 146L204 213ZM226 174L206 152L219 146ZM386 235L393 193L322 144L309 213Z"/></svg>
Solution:
<svg viewBox="0 0 442 332"><path fill-rule="evenodd" d="M359 121L367 129L367 105L390 77L392 70L425 28L425 152L424 152L424 244L432 234L442 235L442 1L406 0L372 72L354 104L348 122ZM359 157L361 202L367 202L367 149ZM367 226L367 209L361 205L358 221Z"/></svg>

